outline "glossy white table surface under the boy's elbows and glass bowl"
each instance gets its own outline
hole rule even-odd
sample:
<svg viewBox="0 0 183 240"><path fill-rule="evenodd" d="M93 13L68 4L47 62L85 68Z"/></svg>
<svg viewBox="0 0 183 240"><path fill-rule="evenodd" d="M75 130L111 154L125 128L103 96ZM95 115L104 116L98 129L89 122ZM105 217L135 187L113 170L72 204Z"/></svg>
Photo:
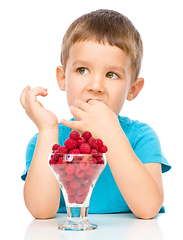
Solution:
<svg viewBox="0 0 183 240"><path fill-rule="evenodd" d="M81 232L58 230L58 224L63 223L66 217L66 214L57 214L50 220L32 220L25 230L24 239L160 240L174 239L176 235L179 239L183 239L181 232L177 232L177 229L181 229L176 225L176 219L172 219L167 214L158 214L152 220L140 220L133 214L90 214L89 221L96 223L98 229Z"/></svg>

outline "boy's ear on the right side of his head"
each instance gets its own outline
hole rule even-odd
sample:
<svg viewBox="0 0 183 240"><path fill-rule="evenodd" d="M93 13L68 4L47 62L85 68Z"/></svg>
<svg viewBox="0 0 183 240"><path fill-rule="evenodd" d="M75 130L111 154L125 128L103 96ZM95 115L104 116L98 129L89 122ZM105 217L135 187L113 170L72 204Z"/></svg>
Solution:
<svg viewBox="0 0 183 240"><path fill-rule="evenodd" d="M126 99L129 101L134 100L144 86L144 79L138 78L131 86L130 90L128 91Z"/></svg>

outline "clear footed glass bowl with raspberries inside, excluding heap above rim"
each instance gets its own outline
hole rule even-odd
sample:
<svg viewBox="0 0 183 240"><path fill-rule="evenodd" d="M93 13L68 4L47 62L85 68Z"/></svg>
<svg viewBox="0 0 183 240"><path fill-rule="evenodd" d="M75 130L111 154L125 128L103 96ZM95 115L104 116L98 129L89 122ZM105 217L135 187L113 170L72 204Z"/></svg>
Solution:
<svg viewBox="0 0 183 240"><path fill-rule="evenodd" d="M49 155L51 167L62 190L68 219L61 230L92 230L97 225L88 221L90 197L98 177L106 166L104 153Z"/></svg>

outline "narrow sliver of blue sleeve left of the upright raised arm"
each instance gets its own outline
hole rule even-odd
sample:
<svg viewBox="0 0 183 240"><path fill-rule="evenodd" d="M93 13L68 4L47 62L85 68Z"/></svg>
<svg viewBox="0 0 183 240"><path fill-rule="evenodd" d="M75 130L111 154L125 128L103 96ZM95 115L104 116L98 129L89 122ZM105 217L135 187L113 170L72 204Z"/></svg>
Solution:
<svg viewBox="0 0 183 240"><path fill-rule="evenodd" d="M23 171L23 174L21 176L21 179L23 181L25 181L26 177L27 177L27 172L30 168L30 165L31 165L31 161L32 161L32 158L33 158L33 155L34 155L34 150L35 150L35 147L36 147L36 143L37 143L37 137L38 137L38 134L36 134L28 143L27 145L27 149L26 149L26 163L25 163L25 169Z"/></svg>

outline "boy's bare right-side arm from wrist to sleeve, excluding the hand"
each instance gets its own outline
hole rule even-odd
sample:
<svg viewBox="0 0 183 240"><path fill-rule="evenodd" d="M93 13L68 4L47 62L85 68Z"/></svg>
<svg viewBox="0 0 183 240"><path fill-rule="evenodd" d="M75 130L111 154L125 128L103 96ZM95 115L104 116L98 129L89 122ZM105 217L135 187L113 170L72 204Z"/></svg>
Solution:
<svg viewBox="0 0 183 240"><path fill-rule="evenodd" d="M122 129L110 135L106 153L114 179L131 211L139 218L155 217L164 199L161 164L143 164L134 153Z"/></svg>

